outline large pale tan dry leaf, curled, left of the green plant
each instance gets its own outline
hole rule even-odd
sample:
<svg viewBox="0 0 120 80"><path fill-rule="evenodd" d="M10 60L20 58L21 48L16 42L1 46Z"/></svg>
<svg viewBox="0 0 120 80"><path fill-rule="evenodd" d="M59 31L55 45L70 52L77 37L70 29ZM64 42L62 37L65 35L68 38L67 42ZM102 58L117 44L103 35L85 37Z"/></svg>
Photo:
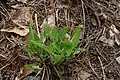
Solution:
<svg viewBox="0 0 120 80"><path fill-rule="evenodd" d="M26 36L29 33L28 22L31 20L29 8L21 7L16 13L12 15L13 24L17 26L13 29L1 29L4 32L13 32L20 36Z"/></svg>

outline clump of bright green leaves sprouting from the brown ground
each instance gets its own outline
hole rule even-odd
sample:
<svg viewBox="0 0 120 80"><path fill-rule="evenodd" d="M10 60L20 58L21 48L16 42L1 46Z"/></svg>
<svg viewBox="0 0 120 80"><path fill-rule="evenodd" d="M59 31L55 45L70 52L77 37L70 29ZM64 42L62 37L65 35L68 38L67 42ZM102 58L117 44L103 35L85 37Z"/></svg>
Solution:
<svg viewBox="0 0 120 80"><path fill-rule="evenodd" d="M50 28L48 24L44 24L43 32L38 35L30 21L26 51L32 55L39 55L43 62L50 58L53 64L72 58L78 50L76 47L79 42L80 28L77 27L68 40L65 39L67 31L68 28L65 26L59 29L58 27Z"/></svg>

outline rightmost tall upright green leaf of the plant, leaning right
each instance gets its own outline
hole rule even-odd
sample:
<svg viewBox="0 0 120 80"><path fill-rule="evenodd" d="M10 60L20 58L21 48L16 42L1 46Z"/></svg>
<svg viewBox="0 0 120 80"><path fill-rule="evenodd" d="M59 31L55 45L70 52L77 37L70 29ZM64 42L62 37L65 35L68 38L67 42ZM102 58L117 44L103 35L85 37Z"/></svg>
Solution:
<svg viewBox="0 0 120 80"><path fill-rule="evenodd" d="M80 28L76 28L75 32L73 33L70 41L73 44L73 47L76 47L77 43L79 42L79 37L80 37Z"/></svg>

